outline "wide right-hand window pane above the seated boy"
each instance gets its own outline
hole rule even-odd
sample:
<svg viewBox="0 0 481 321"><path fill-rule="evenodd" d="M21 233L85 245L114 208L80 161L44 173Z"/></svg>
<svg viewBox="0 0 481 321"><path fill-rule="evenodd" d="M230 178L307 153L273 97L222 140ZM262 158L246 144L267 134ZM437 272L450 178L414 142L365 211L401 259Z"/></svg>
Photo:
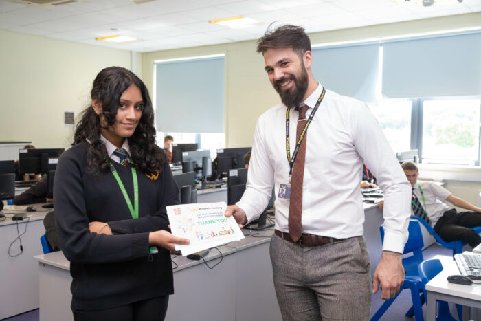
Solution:
<svg viewBox="0 0 481 321"><path fill-rule="evenodd" d="M421 100L423 162L478 165L480 99Z"/></svg>

